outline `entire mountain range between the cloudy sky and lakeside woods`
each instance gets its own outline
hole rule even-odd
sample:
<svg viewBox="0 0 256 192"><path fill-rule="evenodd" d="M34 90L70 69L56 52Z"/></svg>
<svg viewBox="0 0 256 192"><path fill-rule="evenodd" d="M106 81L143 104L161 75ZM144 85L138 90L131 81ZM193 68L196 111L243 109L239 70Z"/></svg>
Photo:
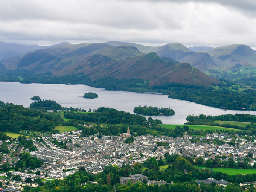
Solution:
<svg viewBox="0 0 256 192"><path fill-rule="evenodd" d="M3 47L9 46L4 54ZM37 49L37 50L33 50ZM13 53L11 53L13 51ZM26 52L26 53L24 53ZM0 43L0 72L52 73L56 76L84 73L90 79L141 78L151 84L178 82L211 85L219 81L204 74L209 69L256 67L256 52L249 46L185 47L181 43L143 46L136 43L61 43L53 46L18 46ZM19 54L14 57L15 54ZM23 54L23 55L20 55ZM201 72L203 71L203 72Z"/></svg>

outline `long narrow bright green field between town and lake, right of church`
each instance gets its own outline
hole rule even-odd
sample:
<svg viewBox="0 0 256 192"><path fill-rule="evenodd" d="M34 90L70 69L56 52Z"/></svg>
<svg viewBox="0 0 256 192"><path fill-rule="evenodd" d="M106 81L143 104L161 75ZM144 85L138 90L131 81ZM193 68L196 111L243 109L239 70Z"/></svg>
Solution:
<svg viewBox="0 0 256 192"><path fill-rule="evenodd" d="M165 127L168 129L174 129L176 126L183 127L184 125L170 125L170 124L162 124L160 125L161 127ZM239 129L233 129L233 128L226 128L226 127L221 127L221 126L210 126L210 125L187 125L190 129L193 130L234 130L234 131L241 131Z"/></svg>

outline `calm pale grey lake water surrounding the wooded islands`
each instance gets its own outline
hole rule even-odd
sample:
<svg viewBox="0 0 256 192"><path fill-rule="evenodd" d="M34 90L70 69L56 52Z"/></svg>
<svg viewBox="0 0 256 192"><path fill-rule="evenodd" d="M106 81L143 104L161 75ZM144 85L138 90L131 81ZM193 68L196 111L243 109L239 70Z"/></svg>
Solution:
<svg viewBox="0 0 256 192"><path fill-rule="evenodd" d="M85 99L84 94L94 92L98 94L96 99ZM63 84L20 84L17 82L0 82L0 100L13 104L29 107L33 96L41 99L50 99L58 102L62 107L81 108L85 110L97 109L99 107L110 107L133 113L136 106L152 106L172 108L173 116L151 116L160 119L165 124L183 124L188 115L221 115L246 113L256 115L256 111L221 110L189 101L170 99L167 95L142 94L125 91L105 91L86 85L63 85ZM148 118L148 116L145 116Z"/></svg>

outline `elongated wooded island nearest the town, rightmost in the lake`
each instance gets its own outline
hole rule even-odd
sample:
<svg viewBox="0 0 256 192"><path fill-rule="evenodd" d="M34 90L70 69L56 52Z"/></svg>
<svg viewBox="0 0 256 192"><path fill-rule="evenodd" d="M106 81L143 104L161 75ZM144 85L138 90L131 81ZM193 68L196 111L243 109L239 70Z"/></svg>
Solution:
<svg viewBox="0 0 256 192"><path fill-rule="evenodd" d="M173 109L169 108L158 108L158 107L135 107L133 110L134 113L142 114L142 115L174 115L175 112Z"/></svg>

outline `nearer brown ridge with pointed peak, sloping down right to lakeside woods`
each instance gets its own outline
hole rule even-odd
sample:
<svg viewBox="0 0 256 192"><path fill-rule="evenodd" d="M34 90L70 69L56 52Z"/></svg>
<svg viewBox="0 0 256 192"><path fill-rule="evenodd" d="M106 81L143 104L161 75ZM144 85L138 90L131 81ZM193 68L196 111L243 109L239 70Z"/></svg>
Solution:
<svg viewBox="0 0 256 192"><path fill-rule="evenodd" d="M154 52L118 61L102 55L93 55L82 62L79 68L79 72L87 74L91 79L107 76L141 78L151 81L151 85L166 82L212 85L219 82L188 63L166 62Z"/></svg>

